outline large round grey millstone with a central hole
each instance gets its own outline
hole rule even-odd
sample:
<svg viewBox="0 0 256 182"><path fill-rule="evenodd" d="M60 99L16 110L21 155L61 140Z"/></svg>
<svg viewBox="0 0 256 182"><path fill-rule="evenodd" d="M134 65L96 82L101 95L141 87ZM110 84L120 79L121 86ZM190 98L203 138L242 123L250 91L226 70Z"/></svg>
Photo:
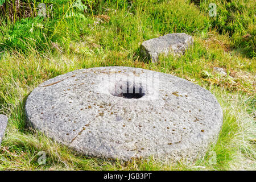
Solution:
<svg viewBox="0 0 256 182"><path fill-rule="evenodd" d="M88 156L194 160L217 140L222 110L201 86L140 68L80 69L35 88L28 123Z"/></svg>

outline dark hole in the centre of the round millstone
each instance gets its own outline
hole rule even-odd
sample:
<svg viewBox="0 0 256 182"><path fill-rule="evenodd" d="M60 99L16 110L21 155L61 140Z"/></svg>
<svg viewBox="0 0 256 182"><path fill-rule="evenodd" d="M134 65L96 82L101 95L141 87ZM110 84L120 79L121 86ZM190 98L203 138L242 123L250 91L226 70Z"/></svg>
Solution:
<svg viewBox="0 0 256 182"><path fill-rule="evenodd" d="M145 95L142 83L135 84L131 81L121 81L115 84L113 96L123 98L141 98Z"/></svg>

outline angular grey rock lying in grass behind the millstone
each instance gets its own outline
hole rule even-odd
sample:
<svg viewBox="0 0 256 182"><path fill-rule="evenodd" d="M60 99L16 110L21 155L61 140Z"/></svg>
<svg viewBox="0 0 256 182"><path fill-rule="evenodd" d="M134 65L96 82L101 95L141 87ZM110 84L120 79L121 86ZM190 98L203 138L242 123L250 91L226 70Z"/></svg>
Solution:
<svg viewBox="0 0 256 182"><path fill-rule="evenodd" d="M193 38L190 35L185 33L167 34L159 38L144 41L141 45L141 55L156 62L160 54L166 56L169 53L181 55L192 44Z"/></svg>

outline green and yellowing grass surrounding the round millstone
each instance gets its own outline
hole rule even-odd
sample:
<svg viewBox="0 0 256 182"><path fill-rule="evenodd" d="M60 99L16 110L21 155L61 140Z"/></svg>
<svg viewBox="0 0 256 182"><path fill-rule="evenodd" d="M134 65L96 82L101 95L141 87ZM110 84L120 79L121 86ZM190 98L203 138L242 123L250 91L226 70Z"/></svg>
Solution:
<svg viewBox="0 0 256 182"><path fill-rule="evenodd" d="M208 1L90 1L86 11L73 1L43 2L47 7L54 3L47 18L0 18L0 113L9 117L0 169L256 169L254 1L218 1L217 18L208 16ZM231 7L240 8L240 14ZM227 17L240 17L242 26L230 24ZM160 57L159 63L142 59L144 40L172 32L192 35L193 47L181 57ZM251 36L243 38L246 34ZM112 65L170 73L210 90L224 111L217 143L191 164L153 158L122 163L81 156L26 127L24 103L41 82L76 69ZM213 67L226 69L228 76ZM39 151L46 152L46 164L38 163Z"/></svg>

